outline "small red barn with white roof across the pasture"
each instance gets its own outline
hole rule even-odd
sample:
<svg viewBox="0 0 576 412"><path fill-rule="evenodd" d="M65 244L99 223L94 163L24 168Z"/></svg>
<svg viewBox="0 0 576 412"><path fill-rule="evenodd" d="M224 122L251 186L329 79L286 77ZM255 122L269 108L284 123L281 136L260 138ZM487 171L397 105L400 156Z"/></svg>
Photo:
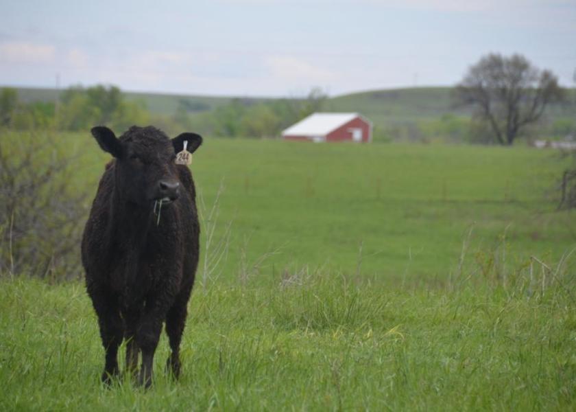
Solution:
<svg viewBox="0 0 576 412"><path fill-rule="evenodd" d="M372 122L358 113L313 113L282 132L284 139L372 141Z"/></svg>

